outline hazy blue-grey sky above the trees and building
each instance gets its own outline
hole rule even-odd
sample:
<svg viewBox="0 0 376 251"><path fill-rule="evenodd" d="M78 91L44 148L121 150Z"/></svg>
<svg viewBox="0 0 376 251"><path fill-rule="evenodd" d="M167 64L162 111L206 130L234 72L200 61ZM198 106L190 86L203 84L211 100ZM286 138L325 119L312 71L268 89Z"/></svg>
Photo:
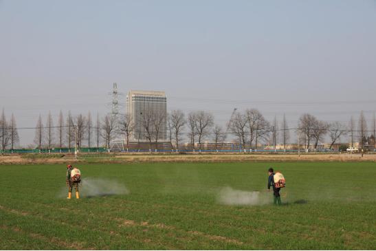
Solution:
<svg viewBox="0 0 376 251"><path fill-rule="evenodd" d="M168 110L204 109L223 127L234 108L285 113L290 127L306 112L369 122L375 45L372 0L0 0L0 109L18 127L49 111L55 123L60 110L103 115L118 83L166 91Z"/></svg>

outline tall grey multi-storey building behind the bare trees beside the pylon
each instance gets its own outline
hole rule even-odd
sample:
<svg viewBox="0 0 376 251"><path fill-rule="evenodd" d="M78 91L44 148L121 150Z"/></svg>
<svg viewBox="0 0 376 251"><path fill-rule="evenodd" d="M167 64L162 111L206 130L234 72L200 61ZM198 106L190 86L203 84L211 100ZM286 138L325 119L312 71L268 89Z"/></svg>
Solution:
<svg viewBox="0 0 376 251"><path fill-rule="evenodd" d="M166 100L164 91L128 91L127 110L135 124L132 142L148 142L150 136L152 141L166 141Z"/></svg>

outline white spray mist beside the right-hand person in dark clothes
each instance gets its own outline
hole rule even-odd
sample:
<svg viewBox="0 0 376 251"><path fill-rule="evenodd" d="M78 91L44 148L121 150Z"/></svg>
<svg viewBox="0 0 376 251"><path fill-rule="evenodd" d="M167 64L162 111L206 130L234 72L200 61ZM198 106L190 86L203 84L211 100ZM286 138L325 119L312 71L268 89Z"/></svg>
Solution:
<svg viewBox="0 0 376 251"><path fill-rule="evenodd" d="M258 206L268 204L270 195L258 191L235 190L230 187L219 191L217 200L225 205Z"/></svg>

